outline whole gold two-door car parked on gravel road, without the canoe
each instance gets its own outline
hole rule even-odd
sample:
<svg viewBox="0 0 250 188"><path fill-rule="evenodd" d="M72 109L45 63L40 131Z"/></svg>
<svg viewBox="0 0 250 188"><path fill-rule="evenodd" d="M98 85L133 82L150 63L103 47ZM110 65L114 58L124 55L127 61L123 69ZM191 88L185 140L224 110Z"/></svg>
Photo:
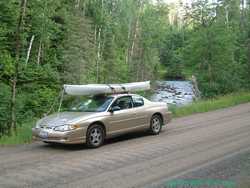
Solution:
<svg viewBox="0 0 250 188"><path fill-rule="evenodd" d="M149 130L159 134L171 120L162 102L136 94L97 95L80 101L67 112L40 119L33 137L46 143L86 143L99 147L104 139L128 132Z"/></svg>

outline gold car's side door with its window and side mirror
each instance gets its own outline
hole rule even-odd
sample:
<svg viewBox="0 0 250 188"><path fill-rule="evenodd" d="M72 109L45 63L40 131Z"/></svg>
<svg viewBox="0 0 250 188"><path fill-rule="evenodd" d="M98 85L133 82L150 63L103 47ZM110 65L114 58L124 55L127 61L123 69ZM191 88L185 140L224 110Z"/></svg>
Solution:
<svg viewBox="0 0 250 188"><path fill-rule="evenodd" d="M111 108L118 106L120 109L110 112L108 120L108 132L119 133L129 131L136 126L136 113L133 109L133 101L131 96L122 96L117 98Z"/></svg>

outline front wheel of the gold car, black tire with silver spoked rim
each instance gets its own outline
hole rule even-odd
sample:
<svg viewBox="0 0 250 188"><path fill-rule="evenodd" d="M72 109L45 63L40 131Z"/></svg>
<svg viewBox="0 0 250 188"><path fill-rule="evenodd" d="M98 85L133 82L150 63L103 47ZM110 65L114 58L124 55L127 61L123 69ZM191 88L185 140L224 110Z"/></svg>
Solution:
<svg viewBox="0 0 250 188"><path fill-rule="evenodd" d="M104 142L105 131L99 124L93 124L88 128L86 144L90 148L98 148Z"/></svg>

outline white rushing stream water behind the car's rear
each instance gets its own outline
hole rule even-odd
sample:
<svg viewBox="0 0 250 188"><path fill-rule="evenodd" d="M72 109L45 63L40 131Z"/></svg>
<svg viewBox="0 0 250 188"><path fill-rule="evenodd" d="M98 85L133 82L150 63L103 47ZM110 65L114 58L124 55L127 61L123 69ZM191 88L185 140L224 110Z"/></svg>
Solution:
<svg viewBox="0 0 250 188"><path fill-rule="evenodd" d="M183 106L193 102L195 95L190 81L157 81L157 89L152 95L152 101Z"/></svg>

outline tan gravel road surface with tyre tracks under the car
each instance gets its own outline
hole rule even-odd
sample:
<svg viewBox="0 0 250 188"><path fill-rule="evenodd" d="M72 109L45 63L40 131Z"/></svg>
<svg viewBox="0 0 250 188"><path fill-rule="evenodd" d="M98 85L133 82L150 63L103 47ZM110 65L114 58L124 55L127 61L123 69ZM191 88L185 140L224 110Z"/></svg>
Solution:
<svg viewBox="0 0 250 188"><path fill-rule="evenodd" d="M111 139L98 149L0 148L0 187L145 187L250 151L250 103L174 119L158 136Z"/></svg>

